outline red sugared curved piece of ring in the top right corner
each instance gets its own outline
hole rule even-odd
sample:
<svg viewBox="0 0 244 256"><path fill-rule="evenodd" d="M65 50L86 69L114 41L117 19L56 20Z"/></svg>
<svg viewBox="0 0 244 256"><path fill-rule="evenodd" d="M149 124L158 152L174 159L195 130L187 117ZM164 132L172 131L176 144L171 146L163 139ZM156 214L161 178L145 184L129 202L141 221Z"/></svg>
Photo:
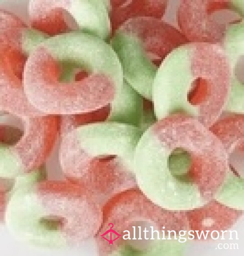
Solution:
<svg viewBox="0 0 244 256"><path fill-rule="evenodd" d="M193 42L219 42L226 29L208 13L209 0L182 0L178 11L181 31Z"/></svg>

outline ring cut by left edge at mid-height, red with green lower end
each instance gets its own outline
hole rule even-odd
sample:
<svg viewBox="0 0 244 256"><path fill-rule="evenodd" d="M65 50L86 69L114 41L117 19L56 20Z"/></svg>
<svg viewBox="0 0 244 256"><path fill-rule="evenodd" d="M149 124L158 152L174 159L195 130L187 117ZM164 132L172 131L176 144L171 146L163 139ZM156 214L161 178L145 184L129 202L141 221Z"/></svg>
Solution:
<svg viewBox="0 0 244 256"><path fill-rule="evenodd" d="M12 146L0 144L0 177L15 178L40 167L55 142L58 120L56 117L20 117L24 134Z"/></svg>

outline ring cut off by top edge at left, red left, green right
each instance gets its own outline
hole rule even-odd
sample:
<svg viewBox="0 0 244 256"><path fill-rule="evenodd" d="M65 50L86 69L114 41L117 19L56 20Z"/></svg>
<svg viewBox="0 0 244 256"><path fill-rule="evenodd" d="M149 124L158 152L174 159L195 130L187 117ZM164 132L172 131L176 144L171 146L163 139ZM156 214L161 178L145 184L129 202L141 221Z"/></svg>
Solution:
<svg viewBox="0 0 244 256"><path fill-rule="evenodd" d="M110 33L109 12L105 0L30 0L29 16L33 28L57 35L67 32L65 11L78 27L100 38Z"/></svg>

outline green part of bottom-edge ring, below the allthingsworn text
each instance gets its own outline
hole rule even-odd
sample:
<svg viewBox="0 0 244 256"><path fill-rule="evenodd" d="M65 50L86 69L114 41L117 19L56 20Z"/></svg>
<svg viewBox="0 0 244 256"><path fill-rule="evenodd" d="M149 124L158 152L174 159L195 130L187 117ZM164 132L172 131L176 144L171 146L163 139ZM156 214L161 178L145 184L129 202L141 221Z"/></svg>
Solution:
<svg viewBox="0 0 244 256"><path fill-rule="evenodd" d="M109 256L181 256L184 254L185 244L177 240L153 240L148 249L137 250L129 245L122 245Z"/></svg>

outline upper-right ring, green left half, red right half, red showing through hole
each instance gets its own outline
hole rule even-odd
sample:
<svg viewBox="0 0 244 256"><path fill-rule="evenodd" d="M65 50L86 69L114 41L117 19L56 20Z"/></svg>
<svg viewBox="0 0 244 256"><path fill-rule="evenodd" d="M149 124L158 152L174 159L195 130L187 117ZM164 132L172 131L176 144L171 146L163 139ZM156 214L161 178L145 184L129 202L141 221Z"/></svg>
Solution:
<svg viewBox="0 0 244 256"><path fill-rule="evenodd" d="M227 58L218 45L194 43L174 49L163 60L153 84L157 118L183 111L211 126L225 107L229 73ZM204 87L194 88L193 82L199 78ZM194 104L188 98L192 91L200 94Z"/></svg>

